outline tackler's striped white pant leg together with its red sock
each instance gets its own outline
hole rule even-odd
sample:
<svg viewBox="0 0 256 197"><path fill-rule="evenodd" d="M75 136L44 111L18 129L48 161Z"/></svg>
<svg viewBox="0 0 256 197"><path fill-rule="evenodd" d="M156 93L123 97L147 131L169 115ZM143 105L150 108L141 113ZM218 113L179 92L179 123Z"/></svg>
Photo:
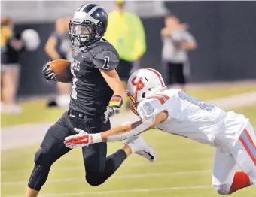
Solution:
<svg viewBox="0 0 256 197"><path fill-rule="evenodd" d="M256 186L256 136L251 123L247 123L236 141L232 155L242 172L235 174L230 193L252 184Z"/></svg>

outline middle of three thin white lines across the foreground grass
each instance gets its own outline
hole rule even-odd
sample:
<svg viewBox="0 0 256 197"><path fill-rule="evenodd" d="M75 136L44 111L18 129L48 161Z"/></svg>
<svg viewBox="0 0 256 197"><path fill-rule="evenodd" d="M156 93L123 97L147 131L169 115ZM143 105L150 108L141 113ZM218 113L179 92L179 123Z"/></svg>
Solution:
<svg viewBox="0 0 256 197"><path fill-rule="evenodd" d="M120 175L111 177L111 179L127 179L127 178L144 178L144 177L167 177L172 175L180 175L180 174L202 174L209 173L210 170L201 170L201 171L175 171L175 172L163 172L163 173L153 173L153 174L129 174L129 175ZM67 178L67 179L55 179L55 180L47 180L47 183L63 183L63 182L80 182L85 181L84 178ZM2 182L2 186L12 186L12 185L24 185L28 181L10 181L10 182Z"/></svg>

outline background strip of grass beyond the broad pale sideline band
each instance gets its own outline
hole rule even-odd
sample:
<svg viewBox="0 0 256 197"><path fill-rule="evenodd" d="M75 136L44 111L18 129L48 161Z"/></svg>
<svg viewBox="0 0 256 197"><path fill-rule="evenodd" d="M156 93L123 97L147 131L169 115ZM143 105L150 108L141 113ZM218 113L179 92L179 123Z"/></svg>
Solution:
<svg viewBox="0 0 256 197"><path fill-rule="evenodd" d="M189 91L190 95L207 101L210 99L219 99L229 95L250 92L256 89L256 86L230 86L224 88L209 87L208 89L199 89L197 91ZM23 114L2 114L2 127L14 126L24 123L53 123L58 120L64 110L59 108L46 108L45 100L37 100L33 102L20 103L23 107ZM125 105L123 105L125 106Z"/></svg>

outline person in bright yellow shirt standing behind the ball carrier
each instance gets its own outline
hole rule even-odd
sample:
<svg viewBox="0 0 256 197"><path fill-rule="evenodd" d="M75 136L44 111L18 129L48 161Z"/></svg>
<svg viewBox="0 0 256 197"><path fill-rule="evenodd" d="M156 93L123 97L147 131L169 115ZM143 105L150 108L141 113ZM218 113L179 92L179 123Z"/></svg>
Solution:
<svg viewBox="0 0 256 197"><path fill-rule="evenodd" d="M120 65L117 73L126 89L126 83L133 68L133 62L142 58L146 51L145 30L142 21L135 14L124 11L125 2L117 1L115 11L108 14L108 29L104 38L117 50ZM129 109L130 100L126 98L126 108Z"/></svg>

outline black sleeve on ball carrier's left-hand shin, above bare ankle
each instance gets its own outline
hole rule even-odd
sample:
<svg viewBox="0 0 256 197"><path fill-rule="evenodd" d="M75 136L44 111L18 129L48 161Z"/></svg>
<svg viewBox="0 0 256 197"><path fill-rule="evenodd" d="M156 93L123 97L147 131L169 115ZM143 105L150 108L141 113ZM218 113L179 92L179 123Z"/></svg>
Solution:
<svg viewBox="0 0 256 197"><path fill-rule="evenodd" d="M29 188L40 191L41 187L47 180L49 171L50 167L35 165L29 178Z"/></svg>

